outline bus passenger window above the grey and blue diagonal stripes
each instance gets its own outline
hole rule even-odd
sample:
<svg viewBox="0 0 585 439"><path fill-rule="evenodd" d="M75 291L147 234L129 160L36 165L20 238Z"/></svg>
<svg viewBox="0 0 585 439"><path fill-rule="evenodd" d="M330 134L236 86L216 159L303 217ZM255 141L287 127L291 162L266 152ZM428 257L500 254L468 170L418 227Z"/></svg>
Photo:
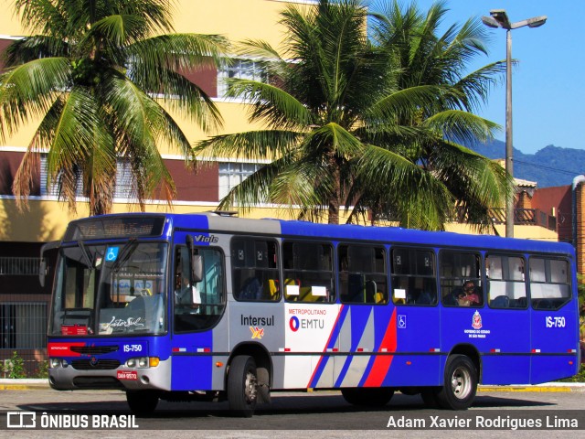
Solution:
<svg viewBox="0 0 585 439"><path fill-rule="evenodd" d="M342 303L367 305L388 303L384 248L340 244L337 254L339 294Z"/></svg>

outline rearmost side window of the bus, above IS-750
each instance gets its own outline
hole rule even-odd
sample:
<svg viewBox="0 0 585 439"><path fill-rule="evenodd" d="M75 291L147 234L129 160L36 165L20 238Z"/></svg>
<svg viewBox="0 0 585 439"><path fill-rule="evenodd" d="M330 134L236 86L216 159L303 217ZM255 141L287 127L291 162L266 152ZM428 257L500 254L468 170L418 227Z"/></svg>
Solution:
<svg viewBox="0 0 585 439"><path fill-rule="evenodd" d="M532 257L528 261L530 302L534 309L558 309L569 303L569 263Z"/></svg>

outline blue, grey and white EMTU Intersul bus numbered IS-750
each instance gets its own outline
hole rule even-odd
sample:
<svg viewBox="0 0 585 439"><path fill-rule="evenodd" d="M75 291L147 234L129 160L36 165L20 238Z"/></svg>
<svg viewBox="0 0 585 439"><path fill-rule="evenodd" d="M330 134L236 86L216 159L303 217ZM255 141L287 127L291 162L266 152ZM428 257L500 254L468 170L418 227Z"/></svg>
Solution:
<svg viewBox="0 0 585 439"><path fill-rule="evenodd" d="M464 410L478 383L580 366L569 244L207 213L74 220L48 249L50 385L119 389L136 413L250 416L307 389Z"/></svg>

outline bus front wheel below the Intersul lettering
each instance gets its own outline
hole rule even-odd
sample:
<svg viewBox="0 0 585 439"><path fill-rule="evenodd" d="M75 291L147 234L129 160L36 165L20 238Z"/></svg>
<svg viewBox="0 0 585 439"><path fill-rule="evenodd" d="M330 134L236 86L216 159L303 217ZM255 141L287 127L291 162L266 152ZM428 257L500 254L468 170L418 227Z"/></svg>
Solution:
<svg viewBox="0 0 585 439"><path fill-rule="evenodd" d="M258 375L256 361L247 355L238 355L231 360L228 371L229 410L250 418L258 400Z"/></svg>

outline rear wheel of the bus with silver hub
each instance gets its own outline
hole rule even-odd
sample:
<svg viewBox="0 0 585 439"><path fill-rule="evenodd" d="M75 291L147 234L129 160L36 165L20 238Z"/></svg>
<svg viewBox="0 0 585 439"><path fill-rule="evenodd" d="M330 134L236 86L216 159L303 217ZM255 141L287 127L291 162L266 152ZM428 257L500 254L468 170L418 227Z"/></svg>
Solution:
<svg viewBox="0 0 585 439"><path fill-rule="evenodd" d="M441 408L467 410L477 391L477 370L473 361L464 355L452 355L445 365L445 381L437 393Z"/></svg>

